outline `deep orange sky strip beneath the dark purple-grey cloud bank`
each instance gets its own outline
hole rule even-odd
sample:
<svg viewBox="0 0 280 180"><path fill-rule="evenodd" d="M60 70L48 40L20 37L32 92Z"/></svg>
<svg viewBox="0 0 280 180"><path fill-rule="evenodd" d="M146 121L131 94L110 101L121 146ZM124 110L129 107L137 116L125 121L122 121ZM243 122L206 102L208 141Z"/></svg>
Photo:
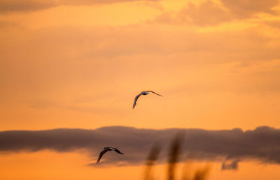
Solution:
<svg viewBox="0 0 280 180"><path fill-rule="evenodd" d="M0 155L0 179L142 179L144 166L88 166L95 163L95 158L81 152L56 153L38 151L35 153L8 153ZM192 177L196 170L210 167L209 180L214 179L279 179L279 165L264 165L254 161L240 162L238 170L221 170L217 162L180 163L176 168L176 177L181 177L182 170ZM167 165L153 167L153 177L165 179ZM16 173L15 173L16 172Z"/></svg>

